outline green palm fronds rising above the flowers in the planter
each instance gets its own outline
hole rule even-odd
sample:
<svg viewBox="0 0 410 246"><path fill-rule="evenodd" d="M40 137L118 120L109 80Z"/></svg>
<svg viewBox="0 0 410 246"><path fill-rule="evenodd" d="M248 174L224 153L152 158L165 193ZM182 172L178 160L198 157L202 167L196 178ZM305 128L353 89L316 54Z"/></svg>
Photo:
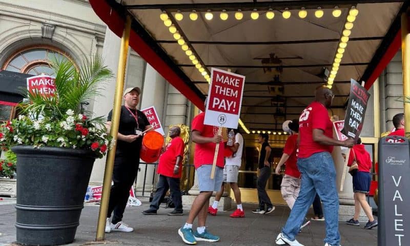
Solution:
<svg viewBox="0 0 410 246"><path fill-rule="evenodd" d="M70 60L55 59L51 66L56 74L54 96L46 97L38 92L24 90L28 100L22 104L22 108L35 118L43 115L61 119L69 109L76 114L83 113L81 103L101 95L104 80L113 76L111 70L104 66L101 56L83 60L78 69Z"/></svg>

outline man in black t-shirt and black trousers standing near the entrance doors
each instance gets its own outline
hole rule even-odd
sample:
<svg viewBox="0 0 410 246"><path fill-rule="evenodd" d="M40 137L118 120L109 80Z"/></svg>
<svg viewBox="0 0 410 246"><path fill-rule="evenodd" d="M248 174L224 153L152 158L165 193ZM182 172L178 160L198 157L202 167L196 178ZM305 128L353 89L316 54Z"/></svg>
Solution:
<svg viewBox="0 0 410 246"><path fill-rule="evenodd" d="M262 146L260 147L259 151L259 162L258 162L258 169L259 169L259 176L258 176L258 200L259 200L259 208L253 210L252 213L255 214L269 214L275 210L273 207L271 199L269 199L268 193L265 190L266 183L271 176L271 146L268 143L269 135L266 133L262 133L258 136L258 142ZM266 206L266 209L265 209Z"/></svg>

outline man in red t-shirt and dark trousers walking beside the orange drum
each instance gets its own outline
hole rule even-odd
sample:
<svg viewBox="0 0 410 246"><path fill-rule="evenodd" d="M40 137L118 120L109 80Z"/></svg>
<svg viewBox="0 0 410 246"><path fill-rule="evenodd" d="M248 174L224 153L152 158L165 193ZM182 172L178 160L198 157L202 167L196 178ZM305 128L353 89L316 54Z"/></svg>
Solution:
<svg viewBox="0 0 410 246"><path fill-rule="evenodd" d="M166 147L165 152L159 157L158 170L159 174L157 191L151 201L150 209L142 211L142 214L157 214L159 203L167 193L171 191L171 198L175 204L175 209L168 215L183 215L181 190L179 189L179 179L182 172L183 149L185 144L179 135L181 129L174 126L170 129L169 136L172 140Z"/></svg>

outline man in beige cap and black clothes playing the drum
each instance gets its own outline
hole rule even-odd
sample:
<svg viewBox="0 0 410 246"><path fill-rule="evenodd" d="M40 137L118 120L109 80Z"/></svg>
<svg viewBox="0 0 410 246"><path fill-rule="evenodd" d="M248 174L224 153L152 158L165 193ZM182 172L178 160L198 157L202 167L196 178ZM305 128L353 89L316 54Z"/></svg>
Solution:
<svg viewBox="0 0 410 246"><path fill-rule="evenodd" d="M134 229L122 222L130 189L134 183L138 166L139 151L142 146L142 132L151 128L144 113L137 110L141 90L138 87L124 91L124 106L119 117L117 148L115 151L111 195L108 205L106 233L111 231L132 232ZM107 117L107 128L111 127L112 110ZM110 221L111 213L114 212Z"/></svg>

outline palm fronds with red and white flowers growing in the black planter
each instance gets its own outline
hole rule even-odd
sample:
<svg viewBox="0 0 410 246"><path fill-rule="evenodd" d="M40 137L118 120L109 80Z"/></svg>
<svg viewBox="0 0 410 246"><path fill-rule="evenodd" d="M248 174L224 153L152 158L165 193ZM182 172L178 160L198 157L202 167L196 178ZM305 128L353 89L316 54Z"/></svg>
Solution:
<svg viewBox="0 0 410 246"><path fill-rule="evenodd" d="M70 60L53 61L55 93L45 96L22 89L27 100L19 105L22 114L0 126L0 147L31 145L85 149L103 157L111 146L104 117L92 118L81 107L104 90L112 72L96 56L79 68Z"/></svg>

